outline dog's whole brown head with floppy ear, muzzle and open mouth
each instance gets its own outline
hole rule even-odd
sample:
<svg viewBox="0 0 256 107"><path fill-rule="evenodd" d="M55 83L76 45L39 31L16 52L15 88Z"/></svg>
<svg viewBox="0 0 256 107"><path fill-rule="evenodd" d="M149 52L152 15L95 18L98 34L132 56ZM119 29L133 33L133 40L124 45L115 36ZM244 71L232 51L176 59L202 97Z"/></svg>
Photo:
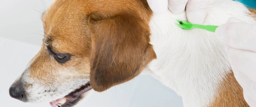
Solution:
<svg viewBox="0 0 256 107"><path fill-rule="evenodd" d="M104 91L134 78L156 58L149 44L146 0L56 0L42 15L41 50L9 89L23 102L67 98L76 104L90 89Z"/></svg>

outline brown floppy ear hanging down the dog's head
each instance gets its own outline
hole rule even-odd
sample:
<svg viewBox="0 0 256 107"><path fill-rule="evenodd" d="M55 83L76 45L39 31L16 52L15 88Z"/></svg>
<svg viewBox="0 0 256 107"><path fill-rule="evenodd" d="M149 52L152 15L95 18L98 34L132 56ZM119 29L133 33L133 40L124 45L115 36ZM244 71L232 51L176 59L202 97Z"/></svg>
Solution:
<svg viewBox="0 0 256 107"><path fill-rule="evenodd" d="M156 58L149 44L149 26L141 18L92 13L88 24L92 35L90 83L95 91L133 79Z"/></svg>

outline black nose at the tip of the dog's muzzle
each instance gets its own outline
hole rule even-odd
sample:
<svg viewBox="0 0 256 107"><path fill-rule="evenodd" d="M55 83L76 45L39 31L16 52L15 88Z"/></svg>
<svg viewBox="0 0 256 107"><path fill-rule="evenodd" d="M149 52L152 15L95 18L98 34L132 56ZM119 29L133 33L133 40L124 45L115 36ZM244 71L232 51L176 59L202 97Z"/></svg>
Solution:
<svg viewBox="0 0 256 107"><path fill-rule="evenodd" d="M26 94L23 87L20 85L12 85L9 88L9 94L12 98L18 99L22 102L26 102Z"/></svg>

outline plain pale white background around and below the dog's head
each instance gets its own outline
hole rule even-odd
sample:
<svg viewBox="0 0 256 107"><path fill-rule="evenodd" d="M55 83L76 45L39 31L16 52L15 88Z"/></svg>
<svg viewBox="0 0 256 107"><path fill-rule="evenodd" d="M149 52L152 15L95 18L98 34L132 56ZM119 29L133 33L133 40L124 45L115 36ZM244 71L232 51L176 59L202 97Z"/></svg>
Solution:
<svg viewBox="0 0 256 107"><path fill-rule="evenodd" d="M43 10L53 0L0 0L0 101L1 107L50 107L23 103L9 96L9 86L23 72L42 44ZM93 92L75 107L182 107L182 98L149 75Z"/></svg>

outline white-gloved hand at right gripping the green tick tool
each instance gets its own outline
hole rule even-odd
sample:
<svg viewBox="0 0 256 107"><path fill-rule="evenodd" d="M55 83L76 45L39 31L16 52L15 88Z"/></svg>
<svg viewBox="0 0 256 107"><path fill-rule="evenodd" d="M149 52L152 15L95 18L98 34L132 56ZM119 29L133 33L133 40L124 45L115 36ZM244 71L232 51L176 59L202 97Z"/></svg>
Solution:
<svg viewBox="0 0 256 107"><path fill-rule="evenodd" d="M256 24L230 18L215 32L224 43L235 78L243 88L245 101L256 107Z"/></svg>

